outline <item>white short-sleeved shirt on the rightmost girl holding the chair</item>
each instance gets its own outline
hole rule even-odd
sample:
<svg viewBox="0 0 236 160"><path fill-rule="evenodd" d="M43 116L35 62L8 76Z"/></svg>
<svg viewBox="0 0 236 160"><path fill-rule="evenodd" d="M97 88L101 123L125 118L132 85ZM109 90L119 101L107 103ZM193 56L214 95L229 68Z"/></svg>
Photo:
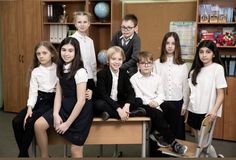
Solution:
<svg viewBox="0 0 236 160"><path fill-rule="evenodd" d="M201 69L197 76L196 86L192 84L191 79L188 81L191 89L188 110L197 114L209 113L216 102L216 89L227 87L224 68L217 63ZM222 106L219 108L217 116L221 117L221 113Z"/></svg>

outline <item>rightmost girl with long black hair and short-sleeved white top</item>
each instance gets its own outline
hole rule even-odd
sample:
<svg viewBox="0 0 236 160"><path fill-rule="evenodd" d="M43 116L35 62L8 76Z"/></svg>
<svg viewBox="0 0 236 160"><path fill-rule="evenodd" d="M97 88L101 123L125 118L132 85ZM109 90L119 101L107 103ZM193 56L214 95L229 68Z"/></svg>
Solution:
<svg viewBox="0 0 236 160"><path fill-rule="evenodd" d="M189 86L191 94L187 122L199 135L206 116L210 116L212 121L221 117L224 89L227 87L219 50L213 41L203 40L198 44L190 69ZM208 151L210 156L217 157L213 146Z"/></svg>

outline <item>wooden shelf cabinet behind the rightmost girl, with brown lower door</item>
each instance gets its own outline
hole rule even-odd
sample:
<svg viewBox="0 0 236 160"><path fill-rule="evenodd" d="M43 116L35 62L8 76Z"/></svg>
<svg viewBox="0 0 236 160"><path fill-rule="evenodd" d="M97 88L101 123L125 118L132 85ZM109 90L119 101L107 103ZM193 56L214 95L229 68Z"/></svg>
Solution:
<svg viewBox="0 0 236 160"><path fill-rule="evenodd" d="M209 7L211 6L211 7ZM200 8L211 8L213 10L210 14L201 12ZM212 39L216 41L220 54L224 56L236 56L236 45L222 44L217 40L219 35L225 32L230 32L236 29L236 15L229 13L224 14L222 10L225 8L236 8L235 0L197 0L197 36L198 43L203 39ZM230 11L228 11L230 12ZM232 12L231 12L232 13ZM225 66L227 67L227 66ZM217 119L214 138L236 141L236 119L234 118L235 110L235 89L236 89L236 75L227 77L228 88L226 89L225 99L223 103L223 114L221 118Z"/></svg>

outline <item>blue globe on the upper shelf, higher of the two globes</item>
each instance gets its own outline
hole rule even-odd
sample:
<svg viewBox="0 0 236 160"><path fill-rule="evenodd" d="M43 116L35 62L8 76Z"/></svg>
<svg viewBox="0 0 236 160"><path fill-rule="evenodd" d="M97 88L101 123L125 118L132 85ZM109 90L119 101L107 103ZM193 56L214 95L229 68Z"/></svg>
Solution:
<svg viewBox="0 0 236 160"><path fill-rule="evenodd" d="M94 13L98 18L107 18L110 12L110 7L105 2L98 2L94 7Z"/></svg>

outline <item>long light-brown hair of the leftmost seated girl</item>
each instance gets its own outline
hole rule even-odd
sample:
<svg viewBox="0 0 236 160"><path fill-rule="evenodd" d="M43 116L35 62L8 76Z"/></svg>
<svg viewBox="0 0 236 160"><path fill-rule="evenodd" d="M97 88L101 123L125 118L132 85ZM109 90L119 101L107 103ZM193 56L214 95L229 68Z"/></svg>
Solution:
<svg viewBox="0 0 236 160"><path fill-rule="evenodd" d="M57 52L56 48L48 41L41 41L41 42L37 43L34 47L33 61L32 61L31 67L29 68L29 71L28 71L28 78L27 78L28 82L30 81L31 72L33 71L33 69L40 65L40 62L37 58L37 50L41 46L44 46L45 48L48 49L48 51L52 54L52 62L57 63L58 52Z"/></svg>

